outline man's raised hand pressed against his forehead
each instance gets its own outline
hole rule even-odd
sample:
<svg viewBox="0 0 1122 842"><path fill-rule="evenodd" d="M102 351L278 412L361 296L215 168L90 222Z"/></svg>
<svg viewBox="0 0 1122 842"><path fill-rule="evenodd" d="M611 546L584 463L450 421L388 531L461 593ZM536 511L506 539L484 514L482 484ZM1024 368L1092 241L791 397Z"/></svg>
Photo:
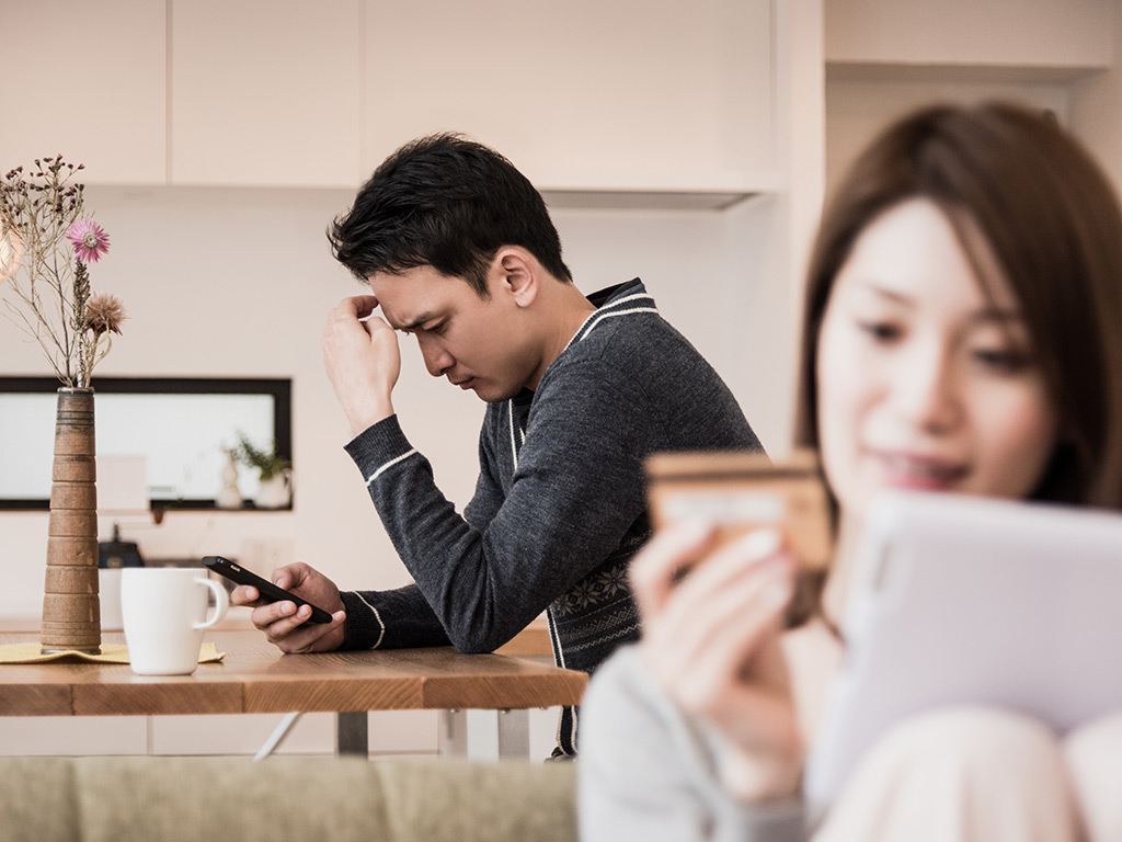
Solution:
<svg viewBox="0 0 1122 842"><path fill-rule="evenodd" d="M394 414L390 394L402 355L394 329L371 315L377 306L374 295L343 299L323 331L323 365L352 436Z"/></svg>

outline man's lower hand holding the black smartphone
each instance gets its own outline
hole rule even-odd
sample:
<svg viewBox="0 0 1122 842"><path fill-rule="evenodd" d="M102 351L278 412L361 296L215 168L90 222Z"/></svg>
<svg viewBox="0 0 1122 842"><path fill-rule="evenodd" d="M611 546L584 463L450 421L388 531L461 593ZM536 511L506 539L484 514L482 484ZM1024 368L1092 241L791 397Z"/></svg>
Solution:
<svg viewBox="0 0 1122 842"><path fill-rule="evenodd" d="M339 588L319 570L303 564L286 565L273 571L273 583L324 611L331 612L330 623L309 623L312 610L307 605L296 608L296 603L261 602L252 585L239 585L230 595L234 605L249 605L254 625L265 632L270 643L284 652L329 652L343 643L343 601Z"/></svg>

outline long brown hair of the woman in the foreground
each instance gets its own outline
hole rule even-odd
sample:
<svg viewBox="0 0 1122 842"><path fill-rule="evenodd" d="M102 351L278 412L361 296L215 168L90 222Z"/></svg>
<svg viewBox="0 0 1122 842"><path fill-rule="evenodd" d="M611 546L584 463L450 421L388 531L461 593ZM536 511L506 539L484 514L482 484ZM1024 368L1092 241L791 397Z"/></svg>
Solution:
<svg viewBox="0 0 1122 842"><path fill-rule="evenodd" d="M827 203L807 277L795 443L819 448L816 350L834 281L870 223L910 199L946 213L976 269L981 234L1018 298L1060 430L1030 497L1122 509L1122 211L1054 117L1010 103L908 115ZM789 624L815 613L820 587L800 582Z"/></svg>

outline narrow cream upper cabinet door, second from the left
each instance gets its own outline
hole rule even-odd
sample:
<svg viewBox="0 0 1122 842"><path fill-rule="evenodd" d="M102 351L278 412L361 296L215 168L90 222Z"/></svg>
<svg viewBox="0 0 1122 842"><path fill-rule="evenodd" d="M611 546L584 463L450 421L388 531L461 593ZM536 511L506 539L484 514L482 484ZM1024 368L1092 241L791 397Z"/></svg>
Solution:
<svg viewBox="0 0 1122 842"><path fill-rule="evenodd" d="M360 177L360 0L173 2L173 184Z"/></svg>

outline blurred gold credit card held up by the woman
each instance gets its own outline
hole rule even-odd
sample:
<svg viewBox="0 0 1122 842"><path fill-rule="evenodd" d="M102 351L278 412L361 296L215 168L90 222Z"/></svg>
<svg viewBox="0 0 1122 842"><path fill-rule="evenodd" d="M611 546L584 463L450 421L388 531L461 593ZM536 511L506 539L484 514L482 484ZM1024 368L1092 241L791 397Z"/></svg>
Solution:
<svg viewBox="0 0 1122 842"><path fill-rule="evenodd" d="M812 451L797 450L781 463L747 451L656 454L646 460L646 476L655 529L709 521L725 543L766 527L783 536L802 567L830 561L830 509Z"/></svg>

